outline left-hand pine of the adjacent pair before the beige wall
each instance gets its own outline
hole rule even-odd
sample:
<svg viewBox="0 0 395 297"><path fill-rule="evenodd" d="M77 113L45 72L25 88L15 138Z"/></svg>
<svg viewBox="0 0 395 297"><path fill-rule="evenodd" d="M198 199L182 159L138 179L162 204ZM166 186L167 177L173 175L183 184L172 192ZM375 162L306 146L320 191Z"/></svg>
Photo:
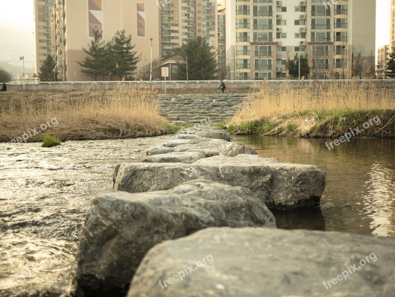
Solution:
<svg viewBox="0 0 395 297"><path fill-rule="evenodd" d="M106 69L107 44L102 39L103 33L95 27L93 40L88 44L88 49L82 48L88 56L84 61L78 62L80 66L87 68L82 69L81 72L94 80L97 80L97 77L102 77L104 80L104 77L111 72Z"/></svg>

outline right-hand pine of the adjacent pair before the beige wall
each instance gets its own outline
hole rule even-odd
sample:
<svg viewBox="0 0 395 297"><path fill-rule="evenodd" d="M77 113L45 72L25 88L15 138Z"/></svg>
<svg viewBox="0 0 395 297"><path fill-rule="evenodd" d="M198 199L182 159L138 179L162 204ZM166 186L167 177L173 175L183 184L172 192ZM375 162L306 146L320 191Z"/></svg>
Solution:
<svg viewBox="0 0 395 297"><path fill-rule="evenodd" d="M117 75L117 80L131 79L137 69L139 56L133 51L132 35L126 36L126 31L118 30L108 45L108 70L112 75Z"/></svg>

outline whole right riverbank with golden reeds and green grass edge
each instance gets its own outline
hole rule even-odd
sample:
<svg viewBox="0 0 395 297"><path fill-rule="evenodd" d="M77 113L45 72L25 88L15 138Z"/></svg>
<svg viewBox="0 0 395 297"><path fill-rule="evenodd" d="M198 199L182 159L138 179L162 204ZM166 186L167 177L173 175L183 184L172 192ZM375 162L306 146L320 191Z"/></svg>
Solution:
<svg viewBox="0 0 395 297"><path fill-rule="evenodd" d="M225 125L229 132L337 138L359 127L358 136L395 137L394 89L368 82L274 89L263 82L252 96Z"/></svg>

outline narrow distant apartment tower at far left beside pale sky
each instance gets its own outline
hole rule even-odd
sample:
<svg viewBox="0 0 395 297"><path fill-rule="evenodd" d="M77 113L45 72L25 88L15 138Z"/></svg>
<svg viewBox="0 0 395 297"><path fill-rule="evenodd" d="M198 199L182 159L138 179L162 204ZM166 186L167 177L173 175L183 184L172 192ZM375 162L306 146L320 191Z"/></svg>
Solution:
<svg viewBox="0 0 395 297"><path fill-rule="evenodd" d="M48 54L51 54L51 14L55 0L34 0L35 72Z"/></svg>

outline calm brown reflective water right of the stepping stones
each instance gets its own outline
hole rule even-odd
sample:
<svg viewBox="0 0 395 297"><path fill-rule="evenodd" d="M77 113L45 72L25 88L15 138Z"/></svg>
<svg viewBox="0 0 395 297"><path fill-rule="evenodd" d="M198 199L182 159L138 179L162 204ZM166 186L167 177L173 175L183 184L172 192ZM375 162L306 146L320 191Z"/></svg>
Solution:
<svg viewBox="0 0 395 297"><path fill-rule="evenodd" d="M332 150L324 139L234 136L232 141L266 158L326 170L320 211L277 211L279 228L395 237L394 139L353 138Z"/></svg>

